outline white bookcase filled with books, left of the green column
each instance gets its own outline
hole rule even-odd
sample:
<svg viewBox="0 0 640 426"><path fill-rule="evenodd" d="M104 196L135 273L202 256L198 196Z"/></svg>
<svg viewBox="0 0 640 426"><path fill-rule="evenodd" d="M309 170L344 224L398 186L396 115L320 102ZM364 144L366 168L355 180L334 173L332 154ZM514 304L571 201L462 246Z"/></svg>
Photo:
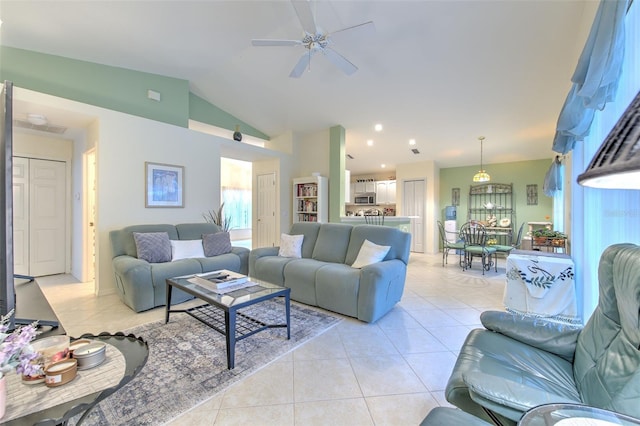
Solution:
<svg viewBox="0 0 640 426"><path fill-rule="evenodd" d="M328 222L329 179L309 176L293 180L293 222Z"/></svg>

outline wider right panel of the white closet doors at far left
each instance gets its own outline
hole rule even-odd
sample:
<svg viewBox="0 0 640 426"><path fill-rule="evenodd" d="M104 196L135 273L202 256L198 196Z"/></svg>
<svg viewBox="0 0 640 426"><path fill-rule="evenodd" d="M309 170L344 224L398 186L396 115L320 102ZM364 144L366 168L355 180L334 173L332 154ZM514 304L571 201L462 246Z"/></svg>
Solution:
<svg viewBox="0 0 640 426"><path fill-rule="evenodd" d="M29 275L65 272L66 163L29 161Z"/></svg>

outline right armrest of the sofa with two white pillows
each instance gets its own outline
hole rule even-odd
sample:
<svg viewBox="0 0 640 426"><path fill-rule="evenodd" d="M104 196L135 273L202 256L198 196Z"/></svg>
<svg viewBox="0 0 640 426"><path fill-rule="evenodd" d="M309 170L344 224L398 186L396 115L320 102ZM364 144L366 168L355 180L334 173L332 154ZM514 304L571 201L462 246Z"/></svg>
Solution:
<svg viewBox="0 0 640 426"><path fill-rule="evenodd" d="M407 265L391 259L364 266L360 271L358 319L374 322L402 298Z"/></svg>

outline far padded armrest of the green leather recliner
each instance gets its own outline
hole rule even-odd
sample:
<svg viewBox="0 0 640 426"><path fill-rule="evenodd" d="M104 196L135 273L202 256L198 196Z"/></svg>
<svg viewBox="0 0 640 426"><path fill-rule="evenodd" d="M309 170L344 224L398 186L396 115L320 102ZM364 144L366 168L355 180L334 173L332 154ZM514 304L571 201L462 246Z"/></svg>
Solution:
<svg viewBox="0 0 640 426"><path fill-rule="evenodd" d="M485 311L480 321L487 330L573 361L581 326L559 324L543 318L502 311Z"/></svg>

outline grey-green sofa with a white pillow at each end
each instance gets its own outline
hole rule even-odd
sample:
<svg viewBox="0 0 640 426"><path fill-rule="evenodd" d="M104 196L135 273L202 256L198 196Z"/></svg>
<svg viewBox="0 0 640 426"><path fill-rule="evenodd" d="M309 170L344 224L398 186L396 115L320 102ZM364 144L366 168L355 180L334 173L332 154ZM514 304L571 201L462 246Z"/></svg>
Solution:
<svg viewBox="0 0 640 426"><path fill-rule="evenodd" d="M291 299L374 322L400 301L411 235L397 228L337 223L294 223L304 235L301 257L278 256L279 247L251 250L249 275L291 288ZM352 268L363 242L390 246L381 262Z"/></svg>

